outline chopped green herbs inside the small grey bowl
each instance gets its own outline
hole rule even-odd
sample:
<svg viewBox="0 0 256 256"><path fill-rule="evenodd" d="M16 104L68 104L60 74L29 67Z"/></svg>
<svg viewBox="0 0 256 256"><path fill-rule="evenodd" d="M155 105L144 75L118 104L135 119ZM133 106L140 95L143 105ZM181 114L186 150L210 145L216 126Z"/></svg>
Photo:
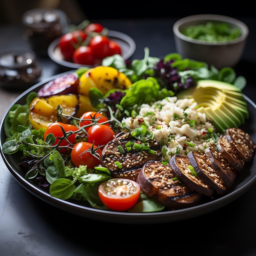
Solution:
<svg viewBox="0 0 256 256"><path fill-rule="evenodd" d="M207 22L206 24L187 26L181 31L185 36L209 42L227 42L241 36L238 27L227 22Z"/></svg>

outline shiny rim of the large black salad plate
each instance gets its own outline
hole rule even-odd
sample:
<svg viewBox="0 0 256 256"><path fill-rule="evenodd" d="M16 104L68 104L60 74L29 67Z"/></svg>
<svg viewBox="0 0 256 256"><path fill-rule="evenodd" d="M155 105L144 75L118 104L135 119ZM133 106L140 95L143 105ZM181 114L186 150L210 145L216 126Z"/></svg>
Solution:
<svg viewBox="0 0 256 256"><path fill-rule="evenodd" d="M63 72L61 74L74 72L74 70ZM256 183L256 173L252 176L252 178L247 181L245 184L240 186L239 188L234 189L234 191L231 191L230 193L227 193L226 195L220 196L220 198L216 198L212 201L205 202L193 207L188 207L184 209L177 209L174 211L161 211L161 212L153 212L153 213L129 213L129 212L116 212L116 211L106 211L101 209L95 209L88 206L83 206L82 204L76 204L74 202L70 202L67 200L61 200L58 198L52 197L49 193L46 191L43 191L35 184L30 183L28 180L25 179L11 164L8 162L8 155L5 155L2 152L2 143L4 142L2 140L2 137L6 137L3 135L3 126L4 126L4 120L7 116L7 113L11 109L11 107L16 104L18 101L24 99L26 95L29 92L38 90L44 83L47 83L61 74L56 74L52 77L49 77L48 79L45 79L39 83L36 83L31 88L25 90L22 94L20 94L7 108L5 111L1 123L0 123L0 153L3 159L4 164L7 166L8 170L10 171L11 175L15 178L15 180L27 191L35 195L37 198L45 201L48 204L51 204L52 206L62 209L63 211L89 218L99 221L107 221L107 222L114 222L114 223L130 223L130 224L149 224L149 223L167 223L167 222L174 222L174 221L180 221L180 220L186 220L191 219L193 217L202 216L204 214L210 213L212 211L215 211L217 209L220 209L221 207L224 207L225 205L233 202L240 196L242 196L245 192L247 192L249 189L254 186ZM249 99L245 94L243 94L245 97L245 100L247 103L249 103L252 108L256 111L256 104ZM256 154L254 155L254 158L252 159L252 162L256 160Z"/></svg>

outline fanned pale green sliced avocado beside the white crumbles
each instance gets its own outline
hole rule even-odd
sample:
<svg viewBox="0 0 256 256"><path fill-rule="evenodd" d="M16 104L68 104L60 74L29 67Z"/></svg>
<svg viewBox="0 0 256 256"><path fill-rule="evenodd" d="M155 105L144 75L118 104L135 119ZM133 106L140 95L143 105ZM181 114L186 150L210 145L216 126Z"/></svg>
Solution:
<svg viewBox="0 0 256 256"><path fill-rule="evenodd" d="M238 128L249 117L242 91L235 85L216 80L199 80L198 84L177 95L178 99L193 98L219 132Z"/></svg>

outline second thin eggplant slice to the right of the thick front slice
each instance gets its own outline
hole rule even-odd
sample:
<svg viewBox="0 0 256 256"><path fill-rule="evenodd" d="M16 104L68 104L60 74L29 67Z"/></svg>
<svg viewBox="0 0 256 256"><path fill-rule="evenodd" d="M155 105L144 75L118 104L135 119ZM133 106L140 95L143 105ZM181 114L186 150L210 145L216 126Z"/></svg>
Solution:
<svg viewBox="0 0 256 256"><path fill-rule="evenodd" d="M222 195L227 191L224 181L215 168L211 166L211 162L204 154L197 151L190 151L187 155L189 161L202 180L208 184L216 193Z"/></svg>

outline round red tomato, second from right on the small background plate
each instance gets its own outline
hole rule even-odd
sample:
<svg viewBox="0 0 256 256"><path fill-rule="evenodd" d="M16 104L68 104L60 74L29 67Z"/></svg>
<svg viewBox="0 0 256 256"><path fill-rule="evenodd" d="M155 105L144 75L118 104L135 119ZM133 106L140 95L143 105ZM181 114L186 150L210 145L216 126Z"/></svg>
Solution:
<svg viewBox="0 0 256 256"><path fill-rule="evenodd" d="M94 36L90 40L89 46L92 48L95 58L102 60L103 58L109 56L109 39L107 36Z"/></svg>

